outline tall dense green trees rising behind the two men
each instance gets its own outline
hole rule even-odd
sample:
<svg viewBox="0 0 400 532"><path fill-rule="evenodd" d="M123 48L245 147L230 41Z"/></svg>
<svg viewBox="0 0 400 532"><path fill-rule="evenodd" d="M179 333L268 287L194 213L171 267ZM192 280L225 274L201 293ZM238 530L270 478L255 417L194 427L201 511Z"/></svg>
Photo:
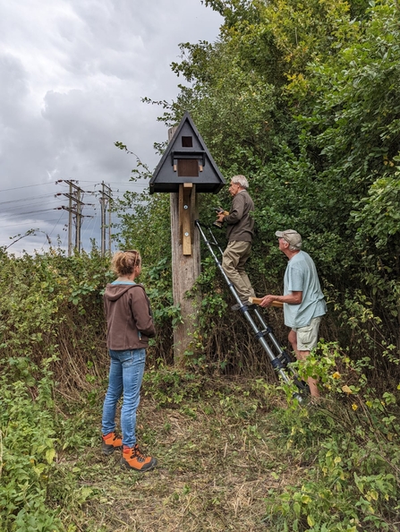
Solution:
<svg viewBox="0 0 400 532"><path fill-rule="evenodd" d="M398 4L206 4L224 17L219 39L181 45L173 70L184 83L176 101L160 102L161 119L174 125L189 110L226 178L249 178L257 293L281 289L285 258L274 235L294 227L328 298L324 338L387 371L382 356L398 360L400 348ZM161 213L157 195L165 194L150 197L157 217L149 208L145 223L128 226L131 235L140 225L154 227L156 247L169 237L161 221L167 205ZM212 199L202 201L200 216L208 221ZM226 191L213 201L230 204ZM224 287L208 287L206 297L218 289ZM232 343L226 334L224 344Z"/></svg>

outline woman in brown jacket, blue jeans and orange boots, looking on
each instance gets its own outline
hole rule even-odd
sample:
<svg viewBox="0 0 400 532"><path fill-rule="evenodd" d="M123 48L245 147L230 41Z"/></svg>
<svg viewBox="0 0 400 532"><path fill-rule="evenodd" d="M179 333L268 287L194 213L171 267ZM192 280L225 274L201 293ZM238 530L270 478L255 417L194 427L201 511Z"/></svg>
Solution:
<svg viewBox="0 0 400 532"><path fill-rule="evenodd" d="M104 294L106 344L111 364L103 406L102 450L105 454L111 454L123 447L123 467L149 471L157 465L157 459L140 452L135 428L146 348L149 338L155 336L156 331L149 297L144 288L134 281L140 275L140 253L136 250L115 253L112 268L118 278L107 284ZM121 440L115 435L115 410L122 394Z"/></svg>

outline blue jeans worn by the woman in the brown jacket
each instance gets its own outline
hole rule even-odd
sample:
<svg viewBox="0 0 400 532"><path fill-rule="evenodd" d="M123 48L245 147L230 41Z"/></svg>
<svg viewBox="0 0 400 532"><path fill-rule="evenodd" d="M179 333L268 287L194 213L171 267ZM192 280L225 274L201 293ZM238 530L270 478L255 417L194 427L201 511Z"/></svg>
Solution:
<svg viewBox="0 0 400 532"><path fill-rule="evenodd" d="M123 445L133 447L136 443L136 410L140 402L140 386L146 362L146 349L113 351L111 356L108 390L103 405L101 431L103 434L115 431L115 411L118 399L123 393L121 408L121 430Z"/></svg>

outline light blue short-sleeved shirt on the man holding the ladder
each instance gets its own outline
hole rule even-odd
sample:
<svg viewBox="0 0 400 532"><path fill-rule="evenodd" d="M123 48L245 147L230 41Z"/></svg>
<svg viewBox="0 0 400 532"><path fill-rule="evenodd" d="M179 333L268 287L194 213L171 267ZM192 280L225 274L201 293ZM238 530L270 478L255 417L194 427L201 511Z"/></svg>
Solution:
<svg viewBox="0 0 400 532"><path fill-rule="evenodd" d="M284 295L302 292L300 305L284 303L285 325L305 327L312 318L327 313L327 304L319 285L318 273L314 261L308 253L300 251L287 263L284 278Z"/></svg>

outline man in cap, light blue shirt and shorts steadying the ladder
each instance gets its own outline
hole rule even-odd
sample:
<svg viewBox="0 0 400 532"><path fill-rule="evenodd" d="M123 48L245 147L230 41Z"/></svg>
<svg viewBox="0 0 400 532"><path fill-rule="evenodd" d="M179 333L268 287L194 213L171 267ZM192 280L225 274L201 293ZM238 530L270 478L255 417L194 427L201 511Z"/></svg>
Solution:
<svg viewBox="0 0 400 532"><path fill-rule="evenodd" d="M285 325L291 328L288 339L300 360L305 360L319 339L319 322L327 313L327 305L319 285L315 264L308 253L302 251L302 236L294 229L277 231L279 249L289 259L285 270L284 295L264 296L260 305L273 301L284 304ZM308 379L311 395L319 397L315 379Z"/></svg>

